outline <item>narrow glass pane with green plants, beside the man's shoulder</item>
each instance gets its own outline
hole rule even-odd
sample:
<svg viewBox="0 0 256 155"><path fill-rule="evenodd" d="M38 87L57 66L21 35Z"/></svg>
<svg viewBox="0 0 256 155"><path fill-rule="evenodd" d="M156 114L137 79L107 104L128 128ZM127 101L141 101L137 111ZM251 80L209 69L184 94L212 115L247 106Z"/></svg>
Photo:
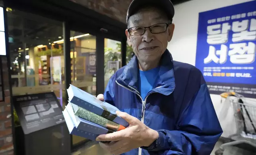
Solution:
<svg viewBox="0 0 256 155"><path fill-rule="evenodd" d="M105 38L104 40L104 69L105 69L105 88L110 77L121 68L121 42Z"/></svg>

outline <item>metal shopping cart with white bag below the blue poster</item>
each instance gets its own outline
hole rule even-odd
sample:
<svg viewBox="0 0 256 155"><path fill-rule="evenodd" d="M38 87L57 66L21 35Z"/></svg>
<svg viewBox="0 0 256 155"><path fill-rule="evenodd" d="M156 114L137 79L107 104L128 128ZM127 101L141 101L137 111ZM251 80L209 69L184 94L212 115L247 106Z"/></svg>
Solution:
<svg viewBox="0 0 256 155"><path fill-rule="evenodd" d="M256 102L235 92L225 92L221 96L224 98L233 96L227 99L230 100L231 106L234 108L238 133L229 136L231 141L222 144L215 151L215 155L223 155L228 146L236 146L256 153Z"/></svg>

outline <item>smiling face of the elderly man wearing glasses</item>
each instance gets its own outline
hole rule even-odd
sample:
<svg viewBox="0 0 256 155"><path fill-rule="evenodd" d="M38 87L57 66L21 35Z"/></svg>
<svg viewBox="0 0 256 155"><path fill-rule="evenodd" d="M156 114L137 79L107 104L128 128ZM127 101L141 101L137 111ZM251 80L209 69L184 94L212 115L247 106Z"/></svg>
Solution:
<svg viewBox="0 0 256 155"><path fill-rule="evenodd" d="M159 9L145 8L138 11L129 18L129 28L135 26L148 27L159 23L169 23ZM153 34L149 28L145 29L145 33L139 36L131 36L126 30L128 44L132 45L135 55L140 63L150 63L159 61L161 55L165 52L168 42L173 36L174 25L171 24L167 30L162 33ZM158 62L156 62L158 63Z"/></svg>

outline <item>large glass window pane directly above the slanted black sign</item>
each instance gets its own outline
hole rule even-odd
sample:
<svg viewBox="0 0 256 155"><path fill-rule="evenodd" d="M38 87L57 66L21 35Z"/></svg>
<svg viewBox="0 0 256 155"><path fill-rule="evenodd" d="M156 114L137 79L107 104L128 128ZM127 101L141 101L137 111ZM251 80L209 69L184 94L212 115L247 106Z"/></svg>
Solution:
<svg viewBox="0 0 256 155"><path fill-rule="evenodd" d="M7 17L13 95L53 91L65 103L62 23L18 10Z"/></svg>

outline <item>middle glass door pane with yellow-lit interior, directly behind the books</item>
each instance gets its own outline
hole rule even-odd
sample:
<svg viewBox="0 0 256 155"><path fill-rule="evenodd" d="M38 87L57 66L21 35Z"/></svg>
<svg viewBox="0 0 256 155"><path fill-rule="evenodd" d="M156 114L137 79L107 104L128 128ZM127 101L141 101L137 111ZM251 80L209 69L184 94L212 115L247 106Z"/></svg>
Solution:
<svg viewBox="0 0 256 155"><path fill-rule="evenodd" d="M96 37L88 33L70 31L70 46L72 85L96 96ZM72 135L72 146L85 140Z"/></svg>

